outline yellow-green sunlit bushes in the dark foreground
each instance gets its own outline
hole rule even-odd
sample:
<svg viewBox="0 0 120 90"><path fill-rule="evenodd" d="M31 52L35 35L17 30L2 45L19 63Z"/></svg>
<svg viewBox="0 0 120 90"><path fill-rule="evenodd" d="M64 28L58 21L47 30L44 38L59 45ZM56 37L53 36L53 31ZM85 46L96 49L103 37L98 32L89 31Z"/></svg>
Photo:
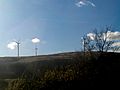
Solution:
<svg viewBox="0 0 120 90"><path fill-rule="evenodd" d="M11 81L8 90L64 90L74 87L76 81L82 84L87 80L90 67L88 62L72 62L68 65L48 69L40 76L39 72L26 72L14 81ZM90 71L91 72L91 71Z"/></svg>

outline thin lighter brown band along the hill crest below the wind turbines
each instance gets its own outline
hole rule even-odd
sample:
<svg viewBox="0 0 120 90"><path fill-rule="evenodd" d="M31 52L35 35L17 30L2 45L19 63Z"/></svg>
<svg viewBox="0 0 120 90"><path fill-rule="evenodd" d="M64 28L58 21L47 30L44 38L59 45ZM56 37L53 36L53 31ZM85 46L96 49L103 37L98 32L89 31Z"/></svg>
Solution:
<svg viewBox="0 0 120 90"><path fill-rule="evenodd" d="M23 56L20 57L19 60L17 57L0 57L0 63L7 62L34 62L41 60L53 60L53 59L70 59L80 52L66 52L66 53L58 53L58 54L50 54L50 55L38 55L38 56Z"/></svg>

